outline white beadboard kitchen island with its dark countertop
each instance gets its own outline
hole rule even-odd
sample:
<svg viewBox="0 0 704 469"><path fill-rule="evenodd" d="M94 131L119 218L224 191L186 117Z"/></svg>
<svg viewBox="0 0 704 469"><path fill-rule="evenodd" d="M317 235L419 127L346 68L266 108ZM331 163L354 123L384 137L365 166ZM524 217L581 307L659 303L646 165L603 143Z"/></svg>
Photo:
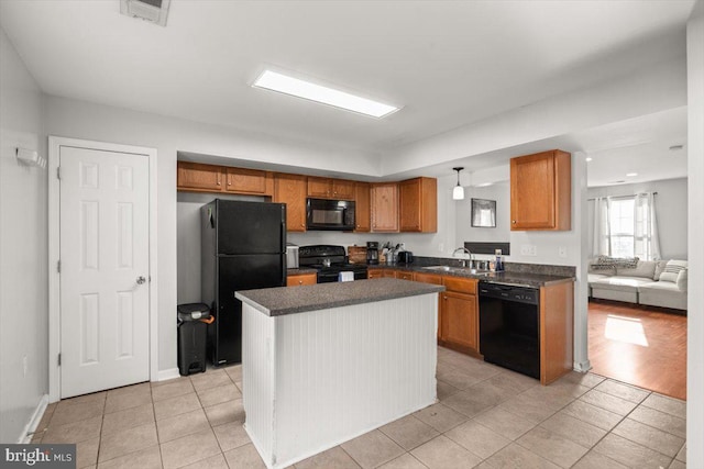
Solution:
<svg viewBox="0 0 704 469"><path fill-rule="evenodd" d="M382 279L237 292L245 429L267 467L436 402L443 289Z"/></svg>

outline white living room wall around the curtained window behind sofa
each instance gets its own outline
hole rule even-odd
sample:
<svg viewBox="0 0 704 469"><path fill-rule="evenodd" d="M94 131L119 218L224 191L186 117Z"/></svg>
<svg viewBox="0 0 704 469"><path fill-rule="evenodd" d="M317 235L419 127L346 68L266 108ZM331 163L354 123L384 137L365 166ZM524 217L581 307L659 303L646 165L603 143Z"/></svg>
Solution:
<svg viewBox="0 0 704 469"><path fill-rule="evenodd" d="M658 192L656 216L660 235L660 253L663 259L686 259L688 183L686 178L666 179L636 185L590 188L587 197L632 196L639 192ZM590 201L588 246L594 242L594 202Z"/></svg>

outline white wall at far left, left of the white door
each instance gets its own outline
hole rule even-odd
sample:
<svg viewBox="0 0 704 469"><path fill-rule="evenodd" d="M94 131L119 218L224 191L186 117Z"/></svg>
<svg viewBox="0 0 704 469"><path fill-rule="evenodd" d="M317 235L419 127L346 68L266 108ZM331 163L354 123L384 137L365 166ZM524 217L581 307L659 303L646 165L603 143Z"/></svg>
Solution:
<svg viewBox="0 0 704 469"><path fill-rule="evenodd" d="M47 174L15 148L47 155L41 91L1 29L0 102L0 442L16 443L48 390L48 283Z"/></svg>

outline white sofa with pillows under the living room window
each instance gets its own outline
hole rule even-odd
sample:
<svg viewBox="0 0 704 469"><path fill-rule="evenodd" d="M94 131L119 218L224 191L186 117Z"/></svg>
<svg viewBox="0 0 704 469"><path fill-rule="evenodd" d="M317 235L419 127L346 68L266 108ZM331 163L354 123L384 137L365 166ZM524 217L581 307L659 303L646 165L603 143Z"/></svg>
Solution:
<svg viewBox="0 0 704 469"><path fill-rule="evenodd" d="M635 268L619 267L618 263L612 268L598 267L600 259L590 261L591 298L686 310L686 260L638 260Z"/></svg>

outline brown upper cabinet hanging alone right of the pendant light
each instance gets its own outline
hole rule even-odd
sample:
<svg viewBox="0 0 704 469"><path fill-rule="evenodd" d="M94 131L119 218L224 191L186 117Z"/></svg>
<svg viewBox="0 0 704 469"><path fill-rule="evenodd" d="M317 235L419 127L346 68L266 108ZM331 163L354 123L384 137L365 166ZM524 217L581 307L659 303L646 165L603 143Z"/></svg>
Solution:
<svg viewBox="0 0 704 469"><path fill-rule="evenodd" d="M572 158L566 152L510 160L512 231L571 230Z"/></svg>

